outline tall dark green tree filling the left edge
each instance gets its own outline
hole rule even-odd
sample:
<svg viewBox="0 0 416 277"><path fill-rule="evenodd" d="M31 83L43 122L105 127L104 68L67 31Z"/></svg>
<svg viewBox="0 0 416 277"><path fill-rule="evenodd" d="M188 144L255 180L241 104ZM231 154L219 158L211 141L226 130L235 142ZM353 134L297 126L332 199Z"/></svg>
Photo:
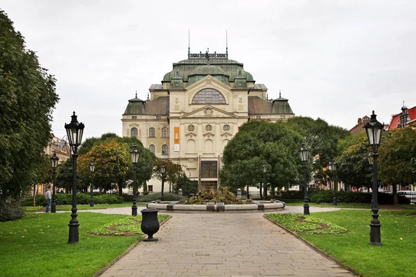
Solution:
<svg viewBox="0 0 416 277"><path fill-rule="evenodd" d="M37 183L42 152L59 98L55 78L40 66L24 37L0 10L0 198Z"/></svg>

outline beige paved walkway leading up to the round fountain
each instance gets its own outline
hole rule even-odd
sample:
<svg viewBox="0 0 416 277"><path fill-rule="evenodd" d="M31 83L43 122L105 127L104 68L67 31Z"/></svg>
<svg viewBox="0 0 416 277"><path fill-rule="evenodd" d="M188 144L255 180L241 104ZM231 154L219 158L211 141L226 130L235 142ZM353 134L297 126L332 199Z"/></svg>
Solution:
<svg viewBox="0 0 416 277"><path fill-rule="evenodd" d="M101 211L130 214L131 209ZM158 242L139 242L101 276L353 276L263 213L171 215L155 234Z"/></svg>

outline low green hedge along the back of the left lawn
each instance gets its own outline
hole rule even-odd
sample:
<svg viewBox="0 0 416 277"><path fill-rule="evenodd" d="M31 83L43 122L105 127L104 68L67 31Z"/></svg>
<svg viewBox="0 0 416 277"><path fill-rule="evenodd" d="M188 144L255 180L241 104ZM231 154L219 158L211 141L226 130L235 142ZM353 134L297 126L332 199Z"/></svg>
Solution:
<svg viewBox="0 0 416 277"><path fill-rule="evenodd" d="M88 193L78 193L76 195L76 204L89 204L91 195ZM123 203L123 198L113 194L94 195L94 204L118 204ZM46 206L44 195L36 195L36 206ZM71 205L72 194L55 194L55 203L57 205ZM27 197L21 202L22 206L33 206L33 197Z"/></svg>

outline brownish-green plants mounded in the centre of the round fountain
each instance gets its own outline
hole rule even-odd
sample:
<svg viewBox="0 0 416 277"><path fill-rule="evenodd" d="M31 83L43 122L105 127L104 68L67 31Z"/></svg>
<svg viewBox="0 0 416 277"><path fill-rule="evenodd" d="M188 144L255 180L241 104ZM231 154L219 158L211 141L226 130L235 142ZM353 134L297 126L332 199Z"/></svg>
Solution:
<svg viewBox="0 0 416 277"><path fill-rule="evenodd" d="M243 204L241 199L237 198L234 193L230 192L227 187L220 187L218 191L202 189L196 195L189 198L187 204L207 204L207 202L224 203L224 204Z"/></svg>

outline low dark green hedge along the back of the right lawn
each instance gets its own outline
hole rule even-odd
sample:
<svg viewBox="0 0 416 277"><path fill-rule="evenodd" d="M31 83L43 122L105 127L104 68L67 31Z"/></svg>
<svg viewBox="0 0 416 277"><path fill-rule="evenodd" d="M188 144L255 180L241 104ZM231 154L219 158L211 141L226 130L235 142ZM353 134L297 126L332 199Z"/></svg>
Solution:
<svg viewBox="0 0 416 277"><path fill-rule="evenodd" d="M338 191L337 194L338 203L357 203L367 204L371 203L372 193L361 193L355 191ZM379 193L379 204L393 204L393 195L388 193ZM399 204L410 204L409 199L402 196L397 196ZM315 190L309 194L309 200L313 203L332 203L333 202L333 190Z"/></svg>

